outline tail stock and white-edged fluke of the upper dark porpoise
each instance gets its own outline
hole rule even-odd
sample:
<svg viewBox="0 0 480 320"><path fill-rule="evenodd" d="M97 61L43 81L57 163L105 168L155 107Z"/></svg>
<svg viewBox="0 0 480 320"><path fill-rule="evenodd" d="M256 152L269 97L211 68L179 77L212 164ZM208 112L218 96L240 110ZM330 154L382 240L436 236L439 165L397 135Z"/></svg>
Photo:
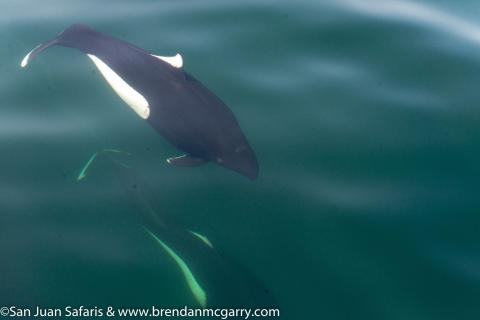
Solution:
<svg viewBox="0 0 480 320"><path fill-rule="evenodd" d="M33 50L23 58L20 65L22 68L25 68L35 56L54 45L77 48L87 53L88 49L92 46L92 43L95 43L95 41L92 42L92 40L99 34L100 33L86 25L73 24L59 33L55 38L33 48Z"/></svg>

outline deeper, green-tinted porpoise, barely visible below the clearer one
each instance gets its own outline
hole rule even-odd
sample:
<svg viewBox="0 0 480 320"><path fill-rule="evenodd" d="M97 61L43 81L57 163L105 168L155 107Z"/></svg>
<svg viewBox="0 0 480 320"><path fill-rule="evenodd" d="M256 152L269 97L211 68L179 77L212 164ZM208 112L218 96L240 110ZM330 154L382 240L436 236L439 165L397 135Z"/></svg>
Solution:
<svg viewBox="0 0 480 320"><path fill-rule="evenodd" d="M175 215L162 209L158 197L133 168L114 160L108 153L96 154L104 155L102 159L113 164L116 176L134 205L135 219L174 260L198 305L204 308L278 308L270 290L242 263L219 250L207 236L178 223ZM91 163L82 170L83 174Z"/></svg>

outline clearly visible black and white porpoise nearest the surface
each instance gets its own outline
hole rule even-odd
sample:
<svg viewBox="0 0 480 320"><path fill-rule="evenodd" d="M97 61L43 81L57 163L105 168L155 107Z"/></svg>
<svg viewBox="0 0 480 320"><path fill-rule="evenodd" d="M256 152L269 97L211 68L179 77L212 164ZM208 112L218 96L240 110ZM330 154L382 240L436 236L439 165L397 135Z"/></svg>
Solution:
<svg viewBox="0 0 480 320"><path fill-rule="evenodd" d="M93 61L113 90L141 118L184 155L176 166L214 162L252 180L258 162L230 109L183 69L182 57L153 55L130 43L74 24L38 45L22 67L43 50L60 45L78 49Z"/></svg>

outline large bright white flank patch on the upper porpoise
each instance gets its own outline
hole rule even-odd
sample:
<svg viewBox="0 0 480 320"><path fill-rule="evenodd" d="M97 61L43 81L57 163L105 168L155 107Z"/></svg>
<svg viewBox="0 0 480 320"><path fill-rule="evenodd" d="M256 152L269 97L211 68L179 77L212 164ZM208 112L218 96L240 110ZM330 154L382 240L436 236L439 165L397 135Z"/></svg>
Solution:
<svg viewBox="0 0 480 320"><path fill-rule="evenodd" d="M138 91L126 83L118 74L116 74L115 71L110 69L110 67L102 60L91 54L87 54L87 56L92 59L105 80L107 80L120 98L122 98L122 100L125 101L142 119L148 119L150 115L148 101Z"/></svg>

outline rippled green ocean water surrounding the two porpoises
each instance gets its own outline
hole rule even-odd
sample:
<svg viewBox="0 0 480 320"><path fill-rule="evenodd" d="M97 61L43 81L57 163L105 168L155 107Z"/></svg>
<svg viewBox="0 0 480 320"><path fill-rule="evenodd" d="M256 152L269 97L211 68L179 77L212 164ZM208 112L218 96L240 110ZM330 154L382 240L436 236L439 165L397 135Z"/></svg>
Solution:
<svg viewBox="0 0 480 320"><path fill-rule="evenodd" d="M195 306L134 222L117 148L158 210L268 288L281 319L480 316L480 3L0 2L0 307ZM185 69L235 113L246 178L179 151L82 53L81 22Z"/></svg>

